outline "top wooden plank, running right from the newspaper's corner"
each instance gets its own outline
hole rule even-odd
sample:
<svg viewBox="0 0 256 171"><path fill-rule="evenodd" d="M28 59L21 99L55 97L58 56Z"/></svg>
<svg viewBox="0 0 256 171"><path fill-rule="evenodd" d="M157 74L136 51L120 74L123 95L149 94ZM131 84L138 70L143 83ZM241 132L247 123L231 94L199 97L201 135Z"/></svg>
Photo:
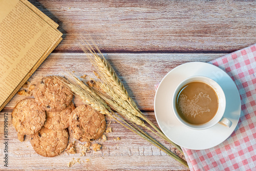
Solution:
<svg viewBox="0 0 256 171"><path fill-rule="evenodd" d="M231 52L256 42L255 1L30 2L60 25L56 51L80 51L88 35L104 52Z"/></svg>

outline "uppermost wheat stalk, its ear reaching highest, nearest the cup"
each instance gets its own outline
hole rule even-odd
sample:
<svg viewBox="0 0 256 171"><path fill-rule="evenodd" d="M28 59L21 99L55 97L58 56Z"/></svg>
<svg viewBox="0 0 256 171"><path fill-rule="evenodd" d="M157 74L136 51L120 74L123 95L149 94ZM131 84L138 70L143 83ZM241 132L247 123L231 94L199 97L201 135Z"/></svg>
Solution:
<svg viewBox="0 0 256 171"><path fill-rule="evenodd" d="M111 89L113 89L113 91L115 92L115 94L117 94L119 96L119 98L121 98L123 101L126 101L130 105L130 107L133 109L133 112L132 112L133 115L144 119L147 123L149 123L158 132L157 135L159 137L165 139L166 141L168 141L169 143L174 145L182 154L184 154L179 145L170 141L163 134L163 132L158 129L158 127L153 122L148 120L147 117L145 117L145 115L142 114L142 112L138 109L136 103L133 101L133 99L127 93L126 89L123 86L123 83L118 78L114 69L111 67L110 63L104 58L104 56L102 55L102 53L100 52L98 47L96 45L94 45L97 52L99 53L99 55L94 51L94 49L92 48L92 46L89 44L89 42L87 40L84 40L84 39L81 39L81 40L83 41L84 47L82 45L80 45L80 46L81 46L83 52L87 54L88 58L90 59L90 61L93 64L93 66L97 69L99 78L105 84L109 85L109 87ZM115 101L120 102L120 100L118 100L118 99L115 99ZM122 102L122 103L124 103L124 102ZM129 108L127 108L126 110L129 110Z"/></svg>

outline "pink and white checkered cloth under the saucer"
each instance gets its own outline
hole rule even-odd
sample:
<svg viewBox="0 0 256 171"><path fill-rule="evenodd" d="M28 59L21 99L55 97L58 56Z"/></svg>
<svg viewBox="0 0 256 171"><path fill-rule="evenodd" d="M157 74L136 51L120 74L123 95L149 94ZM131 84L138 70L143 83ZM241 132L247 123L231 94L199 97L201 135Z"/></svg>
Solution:
<svg viewBox="0 0 256 171"><path fill-rule="evenodd" d="M224 70L236 83L241 116L236 129L223 143L204 150L182 147L188 166L191 171L256 170L256 44L209 63Z"/></svg>

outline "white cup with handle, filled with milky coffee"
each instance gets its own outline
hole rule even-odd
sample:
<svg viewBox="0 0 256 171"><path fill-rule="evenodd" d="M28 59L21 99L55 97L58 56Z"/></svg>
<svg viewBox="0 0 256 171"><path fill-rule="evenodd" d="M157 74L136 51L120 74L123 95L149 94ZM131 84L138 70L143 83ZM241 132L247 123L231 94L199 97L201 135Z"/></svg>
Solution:
<svg viewBox="0 0 256 171"><path fill-rule="evenodd" d="M230 127L232 122L223 117L226 98L219 84L204 76L183 80L173 95L176 118L191 129L203 130L216 123Z"/></svg>

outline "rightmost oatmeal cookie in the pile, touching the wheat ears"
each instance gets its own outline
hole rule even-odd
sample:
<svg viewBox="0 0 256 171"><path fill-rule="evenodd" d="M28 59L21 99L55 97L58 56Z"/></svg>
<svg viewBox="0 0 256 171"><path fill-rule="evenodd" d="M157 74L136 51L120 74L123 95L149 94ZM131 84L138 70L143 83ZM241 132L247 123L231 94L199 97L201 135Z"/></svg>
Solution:
<svg viewBox="0 0 256 171"><path fill-rule="evenodd" d="M79 141L100 138L106 128L105 116L89 105L80 105L70 115L70 130Z"/></svg>

